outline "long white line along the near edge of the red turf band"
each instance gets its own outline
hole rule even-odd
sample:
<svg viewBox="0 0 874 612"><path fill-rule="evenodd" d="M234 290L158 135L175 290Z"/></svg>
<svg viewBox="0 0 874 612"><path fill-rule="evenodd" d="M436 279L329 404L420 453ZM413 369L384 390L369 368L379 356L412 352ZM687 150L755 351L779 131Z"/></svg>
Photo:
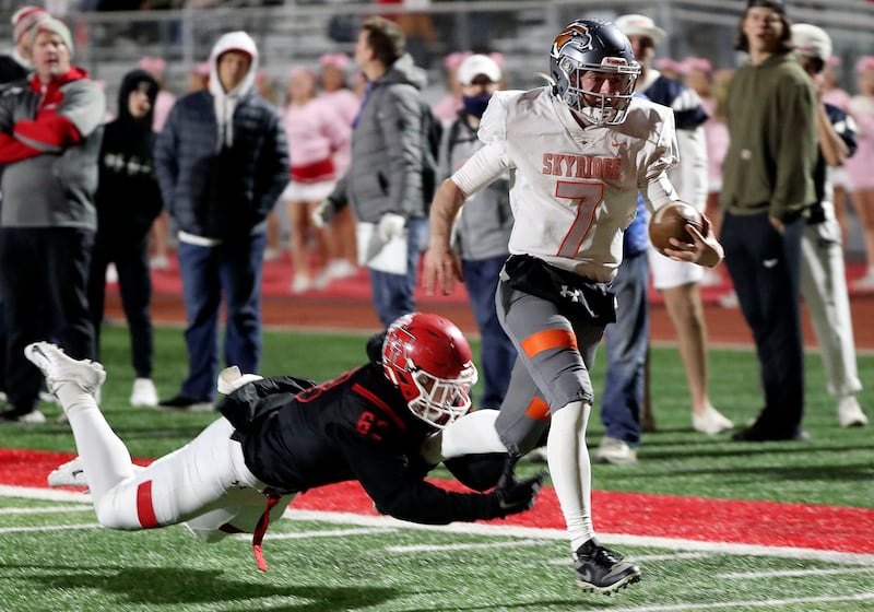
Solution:
<svg viewBox="0 0 874 612"><path fill-rule="evenodd" d="M90 502L91 495L74 491L60 491L26 486L0 485L0 497L22 497L26 499L40 499L49 502ZM538 529L534 527L515 527L508 525L483 525L454 522L451 525L416 525L391 517L373 517L355 515L352 513L324 513L315 510L286 509L283 518L297 521L320 521L341 525L357 525L362 527L386 526L398 529L417 529L422 531L438 531L444 533L461 533L473 536L493 536L524 538L531 540L567 540L564 529ZM846 553L839 551L820 551L816 549L793 549L789 546L763 546L756 544L732 544L728 542L699 542L673 538L654 538L648 536L628 536L625 533L599 533L599 539L609 544L624 544L628 546L649 546L653 549L668 549L673 551L698 551L709 553L771 556L781 558L800 558L807 561L822 561L845 565L874 566L874 554ZM568 554L570 554L568 552ZM872 596L874 597L874 596ZM613 611L616 612L616 611Z"/></svg>

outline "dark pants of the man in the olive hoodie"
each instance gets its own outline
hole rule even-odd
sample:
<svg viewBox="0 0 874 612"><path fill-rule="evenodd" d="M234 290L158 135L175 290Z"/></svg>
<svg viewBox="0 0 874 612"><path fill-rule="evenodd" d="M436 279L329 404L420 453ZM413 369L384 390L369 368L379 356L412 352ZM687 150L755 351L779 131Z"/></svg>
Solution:
<svg viewBox="0 0 874 612"><path fill-rule="evenodd" d="M767 213L725 214L720 242L737 301L756 342L765 409L756 425L793 435L804 410L801 237L805 219L781 235Z"/></svg>

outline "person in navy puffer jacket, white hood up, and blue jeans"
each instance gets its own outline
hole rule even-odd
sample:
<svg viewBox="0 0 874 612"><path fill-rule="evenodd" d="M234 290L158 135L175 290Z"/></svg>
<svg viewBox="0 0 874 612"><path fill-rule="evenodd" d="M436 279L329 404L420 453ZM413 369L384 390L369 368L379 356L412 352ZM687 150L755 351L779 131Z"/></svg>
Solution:
<svg viewBox="0 0 874 612"><path fill-rule="evenodd" d="M210 85L179 98L155 146L164 204L178 227L189 374L160 407L209 410L218 374L224 296L228 365L258 372L261 262L267 216L288 183L288 148L276 108L258 95L258 49L231 32L210 55Z"/></svg>

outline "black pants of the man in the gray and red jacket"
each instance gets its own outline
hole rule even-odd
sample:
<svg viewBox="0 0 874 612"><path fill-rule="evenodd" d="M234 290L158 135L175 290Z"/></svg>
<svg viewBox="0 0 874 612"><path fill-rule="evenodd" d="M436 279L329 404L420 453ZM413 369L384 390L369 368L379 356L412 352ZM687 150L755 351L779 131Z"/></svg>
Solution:
<svg viewBox="0 0 874 612"><path fill-rule="evenodd" d="M79 227L0 228L5 307L7 396L15 413L36 407L43 375L24 356L52 339L74 358L94 356L86 286L94 232Z"/></svg>

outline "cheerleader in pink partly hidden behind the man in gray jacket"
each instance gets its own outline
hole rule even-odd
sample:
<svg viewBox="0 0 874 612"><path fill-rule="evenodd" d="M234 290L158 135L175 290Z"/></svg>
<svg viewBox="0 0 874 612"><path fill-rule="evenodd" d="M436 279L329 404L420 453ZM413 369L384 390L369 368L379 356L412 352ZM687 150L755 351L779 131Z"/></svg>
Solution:
<svg viewBox="0 0 874 612"><path fill-rule="evenodd" d="M358 114L361 98L346 84L350 58L345 54L324 54L319 58L319 81L321 93L319 102L334 110L345 125L352 127ZM336 176L342 176L349 168L351 141L334 153ZM333 257L324 270L326 281L354 276L358 273L358 252L355 238L355 217L352 207L345 207L334 215L326 238L331 243Z"/></svg>

